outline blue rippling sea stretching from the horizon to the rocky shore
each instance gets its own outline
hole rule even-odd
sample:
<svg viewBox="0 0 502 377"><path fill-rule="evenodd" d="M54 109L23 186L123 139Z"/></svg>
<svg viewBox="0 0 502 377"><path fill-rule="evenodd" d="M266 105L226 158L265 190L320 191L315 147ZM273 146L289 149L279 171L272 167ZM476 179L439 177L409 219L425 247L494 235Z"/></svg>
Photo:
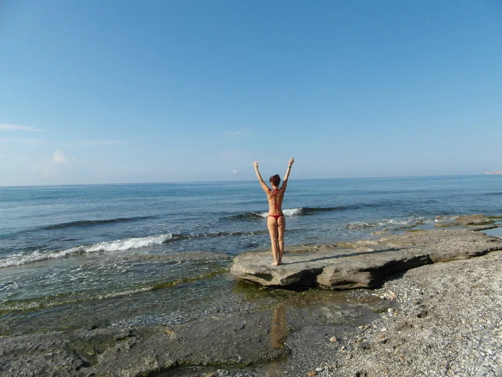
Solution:
<svg viewBox="0 0 502 377"><path fill-rule="evenodd" d="M0 187L0 335L245 305L228 270L270 249L267 209L257 181ZM501 215L502 175L291 179L283 210L288 246L434 229Z"/></svg>

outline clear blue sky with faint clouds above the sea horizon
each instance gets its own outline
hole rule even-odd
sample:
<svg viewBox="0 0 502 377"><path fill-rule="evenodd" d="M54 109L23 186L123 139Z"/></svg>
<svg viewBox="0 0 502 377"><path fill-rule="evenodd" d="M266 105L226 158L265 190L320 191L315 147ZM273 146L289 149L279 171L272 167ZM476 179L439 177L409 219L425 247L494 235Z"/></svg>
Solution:
<svg viewBox="0 0 502 377"><path fill-rule="evenodd" d="M502 169L502 3L8 0L0 185Z"/></svg>

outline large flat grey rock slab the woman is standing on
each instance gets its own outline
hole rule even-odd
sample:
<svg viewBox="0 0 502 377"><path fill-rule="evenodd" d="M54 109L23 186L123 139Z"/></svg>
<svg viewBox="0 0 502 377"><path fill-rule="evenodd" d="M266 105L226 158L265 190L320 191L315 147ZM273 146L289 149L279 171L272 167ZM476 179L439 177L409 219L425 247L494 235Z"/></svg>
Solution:
<svg viewBox="0 0 502 377"><path fill-rule="evenodd" d="M502 240L464 229L424 230L378 241L303 246L289 250L273 266L270 251L235 257L230 272L264 286L375 288L386 276L435 262L467 259L502 250Z"/></svg>

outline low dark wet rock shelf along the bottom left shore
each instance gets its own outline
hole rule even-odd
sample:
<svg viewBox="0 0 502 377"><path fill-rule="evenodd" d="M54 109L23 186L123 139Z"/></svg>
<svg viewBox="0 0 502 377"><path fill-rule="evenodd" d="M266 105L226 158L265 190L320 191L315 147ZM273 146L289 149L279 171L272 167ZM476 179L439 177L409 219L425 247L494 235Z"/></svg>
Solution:
<svg viewBox="0 0 502 377"><path fill-rule="evenodd" d="M139 377L179 365L268 363L289 354L272 309L221 313L175 327L0 337L0 376Z"/></svg>

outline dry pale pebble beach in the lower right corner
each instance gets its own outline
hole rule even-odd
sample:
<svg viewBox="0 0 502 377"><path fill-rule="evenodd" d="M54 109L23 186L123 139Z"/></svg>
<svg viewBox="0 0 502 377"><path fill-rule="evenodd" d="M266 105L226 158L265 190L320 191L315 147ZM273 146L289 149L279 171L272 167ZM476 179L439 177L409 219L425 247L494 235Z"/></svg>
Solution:
<svg viewBox="0 0 502 377"><path fill-rule="evenodd" d="M325 375L502 375L502 252L409 270L374 292L395 303L345 339Z"/></svg>

